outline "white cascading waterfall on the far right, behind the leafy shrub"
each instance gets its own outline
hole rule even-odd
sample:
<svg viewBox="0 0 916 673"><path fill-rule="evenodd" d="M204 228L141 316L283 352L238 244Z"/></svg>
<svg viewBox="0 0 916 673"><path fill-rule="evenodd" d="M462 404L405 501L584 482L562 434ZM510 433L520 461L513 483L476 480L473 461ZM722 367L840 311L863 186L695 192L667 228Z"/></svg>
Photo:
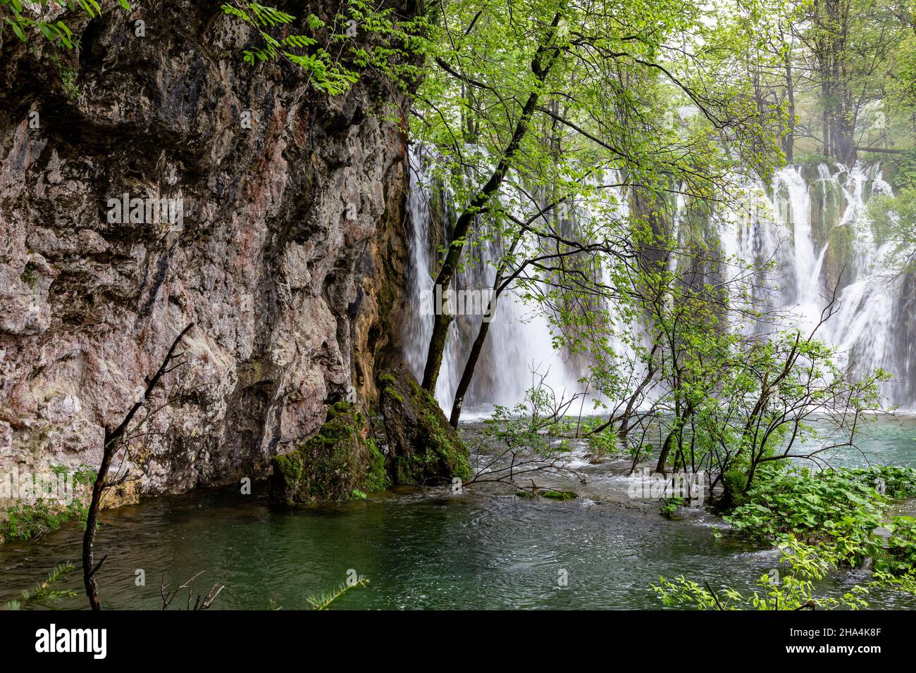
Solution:
<svg viewBox="0 0 916 673"><path fill-rule="evenodd" d="M782 168L769 198L758 192L752 214L733 218L720 233L726 254L778 262L758 300L812 329L835 288L838 306L818 336L854 373L879 367L893 374L884 394L902 408L916 407L912 337L902 328L911 308L903 279L887 267L894 244L876 240L867 216L871 195L892 193L878 165L822 164L807 179L800 167Z"/></svg>

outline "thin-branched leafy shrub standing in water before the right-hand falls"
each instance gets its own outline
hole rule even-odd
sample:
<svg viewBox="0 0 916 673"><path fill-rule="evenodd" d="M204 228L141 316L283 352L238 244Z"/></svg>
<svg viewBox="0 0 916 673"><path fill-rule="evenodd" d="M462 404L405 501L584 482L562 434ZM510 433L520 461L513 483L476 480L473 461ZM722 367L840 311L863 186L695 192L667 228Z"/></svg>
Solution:
<svg viewBox="0 0 916 673"><path fill-rule="evenodd" d="M833 302L812 331L785 329L780 315L758 308L765 268L721 259L715 241L677 243L645 230L638 241L667 255L612 277L618 291L629 286L616 299L625 324L646 326L624 328L628 349L610 346L621 331L601 311L575 328L555 323L564 344L574 345L574 333L591 366L589 384L612 400L607 427L639 450L658 432L656 471L709 472L713 488L724 486L724 508L769 462L819 461L825 450L855 445L863 411L880 407L889 374L855 378L835 364L835 349L817 337Z"/></svg>

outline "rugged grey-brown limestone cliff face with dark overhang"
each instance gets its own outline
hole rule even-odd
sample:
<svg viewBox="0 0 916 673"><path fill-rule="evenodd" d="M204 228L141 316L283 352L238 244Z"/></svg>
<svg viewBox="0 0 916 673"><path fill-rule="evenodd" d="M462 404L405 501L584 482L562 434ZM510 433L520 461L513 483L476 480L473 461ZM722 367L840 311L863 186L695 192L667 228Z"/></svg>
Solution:
<svg viewBox="0 0 916 673"><path fill-rule="evenodd" d="M219 3L110 5L70 21L78 52L0 44L0 472L97 465L193 322L122 467L147 494L266 476L329 406L376 392L405 102L377 76L329 99L252 68ZM125 194L171 216L119 216Z"/></svg>

